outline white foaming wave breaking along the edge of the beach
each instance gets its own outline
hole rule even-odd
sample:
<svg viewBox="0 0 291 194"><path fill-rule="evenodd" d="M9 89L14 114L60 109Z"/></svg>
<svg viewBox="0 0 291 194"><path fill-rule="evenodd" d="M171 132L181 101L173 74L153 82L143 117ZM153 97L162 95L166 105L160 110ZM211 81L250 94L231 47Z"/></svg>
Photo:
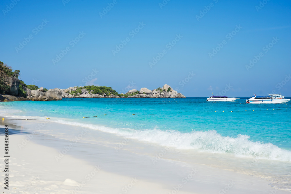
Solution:
<svg viewBox="0 0 291 194"><path fill-rule="evenodd" d="M159 129L118 129L95 124L69 122L61 119L55 120L54 122L100 130L176 149L196 149L212 153L230 153L241 157L255 157L256 159L291 161L290 151L281 149L271 143L265 144L251 141L249 140L250 136L246 135L238 135L236 138L232 138L221 136L221 134L218 134L215 130L181 133L180 131L162 131Z"/></svg>

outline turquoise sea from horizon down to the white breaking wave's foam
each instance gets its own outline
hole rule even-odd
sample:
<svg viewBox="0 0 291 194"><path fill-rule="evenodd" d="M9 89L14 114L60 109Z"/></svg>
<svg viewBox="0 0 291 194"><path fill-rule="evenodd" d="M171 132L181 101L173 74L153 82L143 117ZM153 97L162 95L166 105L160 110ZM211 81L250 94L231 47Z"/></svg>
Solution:
<svg viewBox="0 0 291 194"><path fill-rule="evenodd" d="M290 162L291 103L246 104L245 99L63 98L1 103L0 114L90 124L97 130L160 145L179 137L172 147Z"/></svg>

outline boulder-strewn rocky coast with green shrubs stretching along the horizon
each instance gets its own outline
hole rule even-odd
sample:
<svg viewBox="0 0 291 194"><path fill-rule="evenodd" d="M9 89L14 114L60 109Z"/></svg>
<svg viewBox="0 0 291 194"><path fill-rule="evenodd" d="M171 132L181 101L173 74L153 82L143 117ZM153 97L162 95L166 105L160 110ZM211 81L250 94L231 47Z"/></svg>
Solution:
<svg viewBox="0 0 291 194"><path fill-rule="evenodd" d="M19 70L12 72L7 64L0 61L0 102L34 100L49 101L63 98L185 98L184 95L165 84L154 90L141 88L132 89L125 94L106 86L74 86L66 89L46 88L26 85L18 79Z"/></svg>

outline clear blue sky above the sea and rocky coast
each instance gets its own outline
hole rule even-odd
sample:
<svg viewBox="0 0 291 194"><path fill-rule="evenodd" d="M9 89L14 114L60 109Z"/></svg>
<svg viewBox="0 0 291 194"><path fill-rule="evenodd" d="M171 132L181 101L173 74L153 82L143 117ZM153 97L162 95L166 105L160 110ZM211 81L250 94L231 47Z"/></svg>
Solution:
<svg viewBox="0 0 291 194"><path fill-rule="evenodd" d="M0 8L0 60L26 84L291 96L287 0L4 0Z"/></svg>

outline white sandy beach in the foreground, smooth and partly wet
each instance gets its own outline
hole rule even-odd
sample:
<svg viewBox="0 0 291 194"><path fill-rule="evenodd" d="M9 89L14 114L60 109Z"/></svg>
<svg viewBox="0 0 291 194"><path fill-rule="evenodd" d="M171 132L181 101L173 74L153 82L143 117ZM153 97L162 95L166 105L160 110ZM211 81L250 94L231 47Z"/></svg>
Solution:
<svg viewBox="0 0 291 194"><path fill-rule="evenodd" d="M10 122L5 121L7 123ZM290 193L271 187L267 180L238 172L166 157L157 160L147 154L145 143L134 140L127 143L132 149L124 146L116 151L114 144L118 145L116 142L122 142L122 138L115 134L98 131L97 142L76 143L27 130L39 123L9 124L10 133L13 129L19 131L9 136L9 190L4 189L1 178L3 193ZM48 122L42 132L57 131L56 127L68 125ZM67 139L71 139L70 135L74 137L74 133L81 134L81 129L72 128ZM0 138L3 142L2 134ZM90 141L90 136L87 139ZM3 146L1 143L0 150ZM135 152L133 148L142 149L144 153ZM169 150L167 154L171 153ZM4 177L3 170L1 177Z"/></svg>

